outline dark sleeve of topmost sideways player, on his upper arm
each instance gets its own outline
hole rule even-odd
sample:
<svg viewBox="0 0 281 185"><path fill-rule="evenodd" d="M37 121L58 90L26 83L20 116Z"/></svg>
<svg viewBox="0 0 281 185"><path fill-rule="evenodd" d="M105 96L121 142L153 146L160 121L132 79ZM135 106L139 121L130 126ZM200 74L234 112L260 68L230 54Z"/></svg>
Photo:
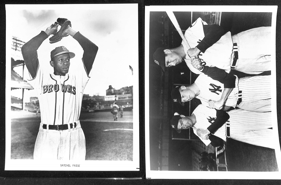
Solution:
<svg viewBox="0 0 281 185"><path fill-rule="evenodd" d="M203 25L203 31L205 37L196 47L204 53L224 35L224 28L217 24Z"/></svg>

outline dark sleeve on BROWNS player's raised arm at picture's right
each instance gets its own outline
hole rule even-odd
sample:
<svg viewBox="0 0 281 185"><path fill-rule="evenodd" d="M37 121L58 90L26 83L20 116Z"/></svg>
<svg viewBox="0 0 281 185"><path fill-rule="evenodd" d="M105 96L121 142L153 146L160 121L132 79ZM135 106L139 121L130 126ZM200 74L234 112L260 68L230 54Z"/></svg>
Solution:
<svg viewBox="0 0 281 185"><path fill-rule="evenodd" d="M87 75L89 76L99 48L96 46L96 44L92 43L92 41L84 37L79 31L73 35L73 38L79 42L84 50L83 62Z"/></svg>

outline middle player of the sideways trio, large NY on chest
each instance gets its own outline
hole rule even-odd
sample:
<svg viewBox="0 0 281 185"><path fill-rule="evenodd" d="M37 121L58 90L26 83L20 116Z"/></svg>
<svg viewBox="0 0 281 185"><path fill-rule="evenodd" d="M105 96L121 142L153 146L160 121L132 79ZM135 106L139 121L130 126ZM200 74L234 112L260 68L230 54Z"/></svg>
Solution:
<svg viewBox="0 0 281 185"><path fill-rule="evenodd" d="M200 61L192 58L192 65ZM271 111L271 75L239 78L216 67L204 66L194 84L172 89L174 103L201 100L210 108L229 110L238 107L255 112Z"/></svg>

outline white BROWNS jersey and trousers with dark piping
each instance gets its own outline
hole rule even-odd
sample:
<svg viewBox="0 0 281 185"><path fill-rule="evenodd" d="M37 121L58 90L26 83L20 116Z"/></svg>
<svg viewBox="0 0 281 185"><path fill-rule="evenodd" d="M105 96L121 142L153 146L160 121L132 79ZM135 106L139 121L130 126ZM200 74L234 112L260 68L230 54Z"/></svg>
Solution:
<svg viewBox="0 0 281 185"><path fill-rule="evenodd" d="M75 70L77 75L58 76L46 72L39 65L36 77L30 80L37 91L41 112L34 159L85 160L86 142L79 116L83 91L90 77L84 65ZM74 122L77 126L71 129L69 124ZM43 124L47 129L43 129ZM65 124L68 130L49 130L48 126Z"/></svg>

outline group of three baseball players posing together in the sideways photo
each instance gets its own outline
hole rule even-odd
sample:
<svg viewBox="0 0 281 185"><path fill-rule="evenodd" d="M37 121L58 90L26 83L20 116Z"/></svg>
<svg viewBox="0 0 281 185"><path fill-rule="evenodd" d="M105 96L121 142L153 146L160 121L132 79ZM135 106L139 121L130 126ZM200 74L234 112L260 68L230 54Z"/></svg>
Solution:
<svg viewBox="0 0 281 185"><path fill-rule="evenodd" d="M165 67L175 66L185 60L190 71L200 74L194 84L172 89L174 103L183 105L183 102L198 97L202 104L190 117L175 115L171 119L171 127L180 132L180 129L188 129L196 124L198 129L194 129L194 133L203 138L205 144L211 143L213 146L220 143L215 142L213 136L224 141L228 136L273 148L271 76L256 76L271 68L268 47L270 27L254 28L231 36L230 32L224 34L218 25L207 25L198 18L185 31L185 38L190 49L182 42L176 48L158 48L153 55L154 62L163 71ZM204 68L198 70L199 65ZM244 76L247 76L245 73L251 74L249 76L252 77L238 79L233 75L233 70L244 72ZM212 136L208 142L204 140L206 135Z"/></svg>

